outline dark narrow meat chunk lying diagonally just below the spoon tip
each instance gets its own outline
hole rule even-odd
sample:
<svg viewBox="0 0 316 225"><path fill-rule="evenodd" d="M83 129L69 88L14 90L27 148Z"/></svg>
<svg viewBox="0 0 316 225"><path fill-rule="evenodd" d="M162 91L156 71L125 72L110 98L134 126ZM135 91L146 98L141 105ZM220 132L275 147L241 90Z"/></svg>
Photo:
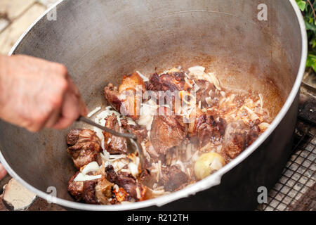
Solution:
<svg viewBox="0 0 316 225"><path fill-rule="evenodd" d="M137 184L136 179L131 174L124 172L117 173L114 171L112 165L108 165L105 168L105 172L108 181L124 188L124 190L135 200L143 200L146 188L143 185Z"/></svg>

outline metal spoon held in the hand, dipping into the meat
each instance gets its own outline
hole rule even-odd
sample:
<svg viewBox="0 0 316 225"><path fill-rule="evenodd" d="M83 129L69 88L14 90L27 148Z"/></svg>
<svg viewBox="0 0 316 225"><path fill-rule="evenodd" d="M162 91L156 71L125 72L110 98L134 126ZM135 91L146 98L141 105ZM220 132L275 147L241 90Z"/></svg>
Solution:
<svg viewBox="0 0 316 225"><path fill-rule="evenodd" d="M129 131L129 134L117 132L117 131L114 131L113 129L103 127L100 124L97 124L96 122L93 122L92 120L89 120L86 117L79 117L79 119L77 121L84 122L84 123L89 124L93 127L98 127L99 129L102 129L103 131L105 131L107 133L113 134L114 136L121 136L121 137L125 138L127 141L129 141L129 143L131 143L131 145L129 145L129 146L134 147L132 150L131 150L131 148L129 148L129 152L130 153L135 153L135 152L138 153L138 157L140 159L140 167L141 167L142 171L143 171L143 169L145 169L145 167L144 167L145 156L144 156L143 148L140 145L140 143L138 143L137 136L135 134L132 134L131 131L127 130L127 131Z"/></svg>

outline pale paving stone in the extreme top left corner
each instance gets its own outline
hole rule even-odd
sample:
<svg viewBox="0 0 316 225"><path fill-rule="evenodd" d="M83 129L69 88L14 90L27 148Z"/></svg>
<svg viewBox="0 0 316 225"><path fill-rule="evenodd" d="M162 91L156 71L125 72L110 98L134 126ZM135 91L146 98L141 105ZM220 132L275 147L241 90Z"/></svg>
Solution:
<svg viewBox="0 0 316 225"><path fill-rule="evenodd" d="M13 20L27 10L36 0L1 0L0 15Z"/></svg>

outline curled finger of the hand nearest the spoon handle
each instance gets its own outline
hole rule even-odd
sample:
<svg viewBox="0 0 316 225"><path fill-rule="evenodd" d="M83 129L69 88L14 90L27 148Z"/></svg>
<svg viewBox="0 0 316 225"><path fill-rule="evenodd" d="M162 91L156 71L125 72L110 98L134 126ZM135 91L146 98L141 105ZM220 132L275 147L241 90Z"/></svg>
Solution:
<svg viewBox="0 0 316 225"><path fill-rule="evenodd" d="M79 117L79 103L74 94L67 92L65 101L62 104L61 117L53 125L53 129L65 129L69 127Z"/></svg>

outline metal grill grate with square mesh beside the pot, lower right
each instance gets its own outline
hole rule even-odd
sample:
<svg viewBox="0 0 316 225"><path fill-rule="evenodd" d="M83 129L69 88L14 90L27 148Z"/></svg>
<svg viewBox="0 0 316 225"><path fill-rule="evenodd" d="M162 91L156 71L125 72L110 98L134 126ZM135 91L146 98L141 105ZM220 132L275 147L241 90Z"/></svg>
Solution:
<svg viewBox="0 0 316 225"><path fill-rule="evenodd" d="M261 211L316 210L316 129L298 121L292 155Z"/></svg>

